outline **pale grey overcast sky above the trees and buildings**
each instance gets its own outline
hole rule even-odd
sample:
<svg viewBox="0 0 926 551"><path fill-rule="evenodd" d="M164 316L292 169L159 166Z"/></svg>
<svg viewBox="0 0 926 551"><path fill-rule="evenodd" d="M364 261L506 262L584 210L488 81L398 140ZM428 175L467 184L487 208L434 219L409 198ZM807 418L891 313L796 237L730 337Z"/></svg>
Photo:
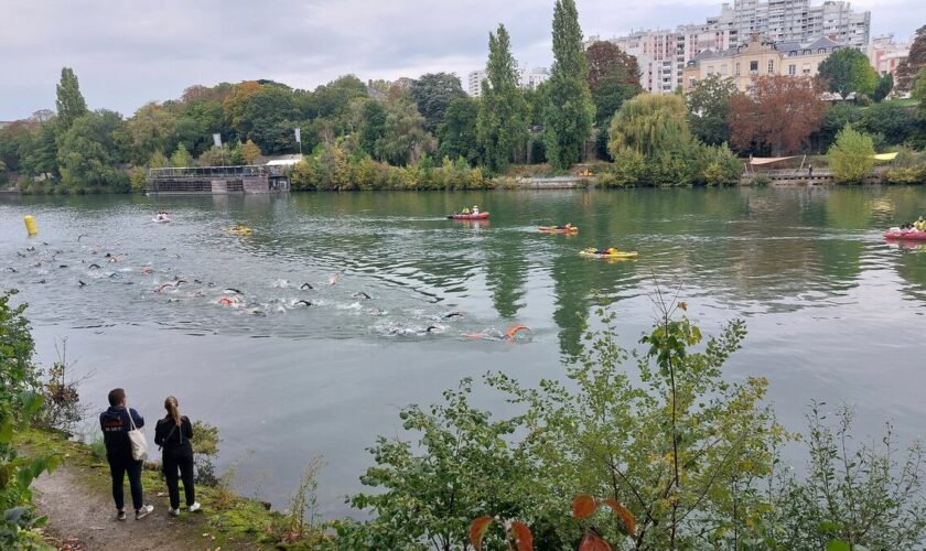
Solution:
<svg viewBox="0 0 926 551"><path fill-rule="evenodd" d="M821 0L811 0L812 4ZM93 109L131 115L190 85L270 78L314 88L362 79L466 74L499 22L523 66L551 62L553 0L0 0L0 120L54 108L62 66ZM713 0L578 0L586 36L703 22ZM926 0L857 0L872 35L913 34ZM464 85L465 86L465 85Z"/></svg>

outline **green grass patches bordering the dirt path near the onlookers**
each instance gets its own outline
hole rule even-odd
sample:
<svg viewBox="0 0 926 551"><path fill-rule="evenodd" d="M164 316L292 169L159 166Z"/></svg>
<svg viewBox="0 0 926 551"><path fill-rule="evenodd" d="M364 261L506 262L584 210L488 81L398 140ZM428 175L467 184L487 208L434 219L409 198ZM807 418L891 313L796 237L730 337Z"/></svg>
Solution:
<svg viewBox="0 0 926 551"><path fill-rule="evenodd" d="M57 452L64 456L65 467L71 467L93 491L109 495L109 467L106 464L105 449L99 443L84 444L67 440L58 432L31 429L24 431L17 441L17 447L24 453ZM234 474L230 476L234 477ZM146 464L142 472L142 485L149 491L165 489L159 467ZM202 515L185 515L181 520L196 527L197 538L208 538L208 547L265 549L308 549L308 541L314 545L329 542L321 528L314 533L306 533L304 541L291 541L291 519L279 511L267 510L263 504L229 491L228 487L196 486L196 500L203 505ZM202 526L198 526L202 525ZM205 534L205 536L202 536ZM213 540L213 538L215 538ZM290 540L290 541L287 541ZM203 542L190 541L194 548L202 548Z"/></svg>

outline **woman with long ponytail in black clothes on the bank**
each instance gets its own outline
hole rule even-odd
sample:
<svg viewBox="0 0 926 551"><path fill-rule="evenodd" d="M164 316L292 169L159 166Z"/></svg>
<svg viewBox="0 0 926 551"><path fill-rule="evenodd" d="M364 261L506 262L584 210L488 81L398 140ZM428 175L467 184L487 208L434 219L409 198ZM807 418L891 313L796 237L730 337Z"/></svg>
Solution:
<svg viewBox="0 0 926 551"><path fill-rule="evenodd" d="M158 420L158 425L154 428L154 443L162 450L161 464L164 477L168 479L168 494L171 498L171 508L168 512L176 517L180 516L177 469L180 469L180 478L183 479L187 509L190 512L200 509L193 488L193 444L190 443L190 439L193 437L193 424L186 415L180 414L176 398L169 396L164 400L164 409L168 410L168 415Z"/></svg>

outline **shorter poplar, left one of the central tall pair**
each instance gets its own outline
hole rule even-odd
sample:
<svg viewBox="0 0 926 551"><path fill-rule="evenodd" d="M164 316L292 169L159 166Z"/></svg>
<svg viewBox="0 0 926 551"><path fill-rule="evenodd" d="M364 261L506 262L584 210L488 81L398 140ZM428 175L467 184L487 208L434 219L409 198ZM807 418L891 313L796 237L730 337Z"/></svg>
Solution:
<svg viewBox="0 0 926 551"><path fill-rule="evenodd" d="M488 33L487 78L482 83L476 139L483 163L503 172L527 144L527 100L518 89L518 73L505 25Z"/></svg>

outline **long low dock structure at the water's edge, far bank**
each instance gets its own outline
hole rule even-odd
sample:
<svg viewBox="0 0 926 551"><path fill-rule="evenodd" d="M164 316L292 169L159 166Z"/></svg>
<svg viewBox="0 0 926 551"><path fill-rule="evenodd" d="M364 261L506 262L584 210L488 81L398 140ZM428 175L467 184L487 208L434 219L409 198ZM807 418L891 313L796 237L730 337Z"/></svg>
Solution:
<svg viewBox="0 0 926 551"><path fill-rule="evenodd" d="M279 193L290 190L289 176L268 165L180 166L150 169L149 194L214 195Z"/></svg>

